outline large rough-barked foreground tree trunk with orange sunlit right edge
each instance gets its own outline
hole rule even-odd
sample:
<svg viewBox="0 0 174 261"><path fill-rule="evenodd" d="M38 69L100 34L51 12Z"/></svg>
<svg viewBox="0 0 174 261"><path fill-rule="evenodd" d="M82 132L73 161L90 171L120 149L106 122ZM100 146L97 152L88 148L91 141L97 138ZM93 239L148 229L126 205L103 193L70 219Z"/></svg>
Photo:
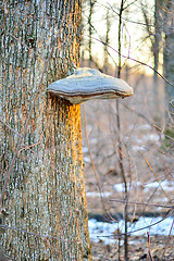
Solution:
<svg viewBox="0 0 174 261"><path fill-rule="evenodd" d="M80 4L7 0L0 10L0 252L15 260L91 260L80 107L46 91L78 65Z"/></svg>

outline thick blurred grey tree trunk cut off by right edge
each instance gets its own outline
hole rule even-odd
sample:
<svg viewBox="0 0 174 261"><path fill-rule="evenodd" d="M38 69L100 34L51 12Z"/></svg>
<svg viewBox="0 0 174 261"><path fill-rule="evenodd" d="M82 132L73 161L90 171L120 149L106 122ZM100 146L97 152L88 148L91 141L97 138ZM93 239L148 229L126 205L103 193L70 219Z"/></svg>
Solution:
<svg viewBox="0 0 174 261"><path fill-rule="evenodd" d="M164 12L164 50L163 50L163 71L164 77L174 84L174 0L165 0L165 12ZM165 85L165 99L166 110L171 112L167 116L167 121L171 117L174 120L174 109L169 105L170 101L174 98L174 87ZM166 113L169 115L169 113Z"/></svg>

